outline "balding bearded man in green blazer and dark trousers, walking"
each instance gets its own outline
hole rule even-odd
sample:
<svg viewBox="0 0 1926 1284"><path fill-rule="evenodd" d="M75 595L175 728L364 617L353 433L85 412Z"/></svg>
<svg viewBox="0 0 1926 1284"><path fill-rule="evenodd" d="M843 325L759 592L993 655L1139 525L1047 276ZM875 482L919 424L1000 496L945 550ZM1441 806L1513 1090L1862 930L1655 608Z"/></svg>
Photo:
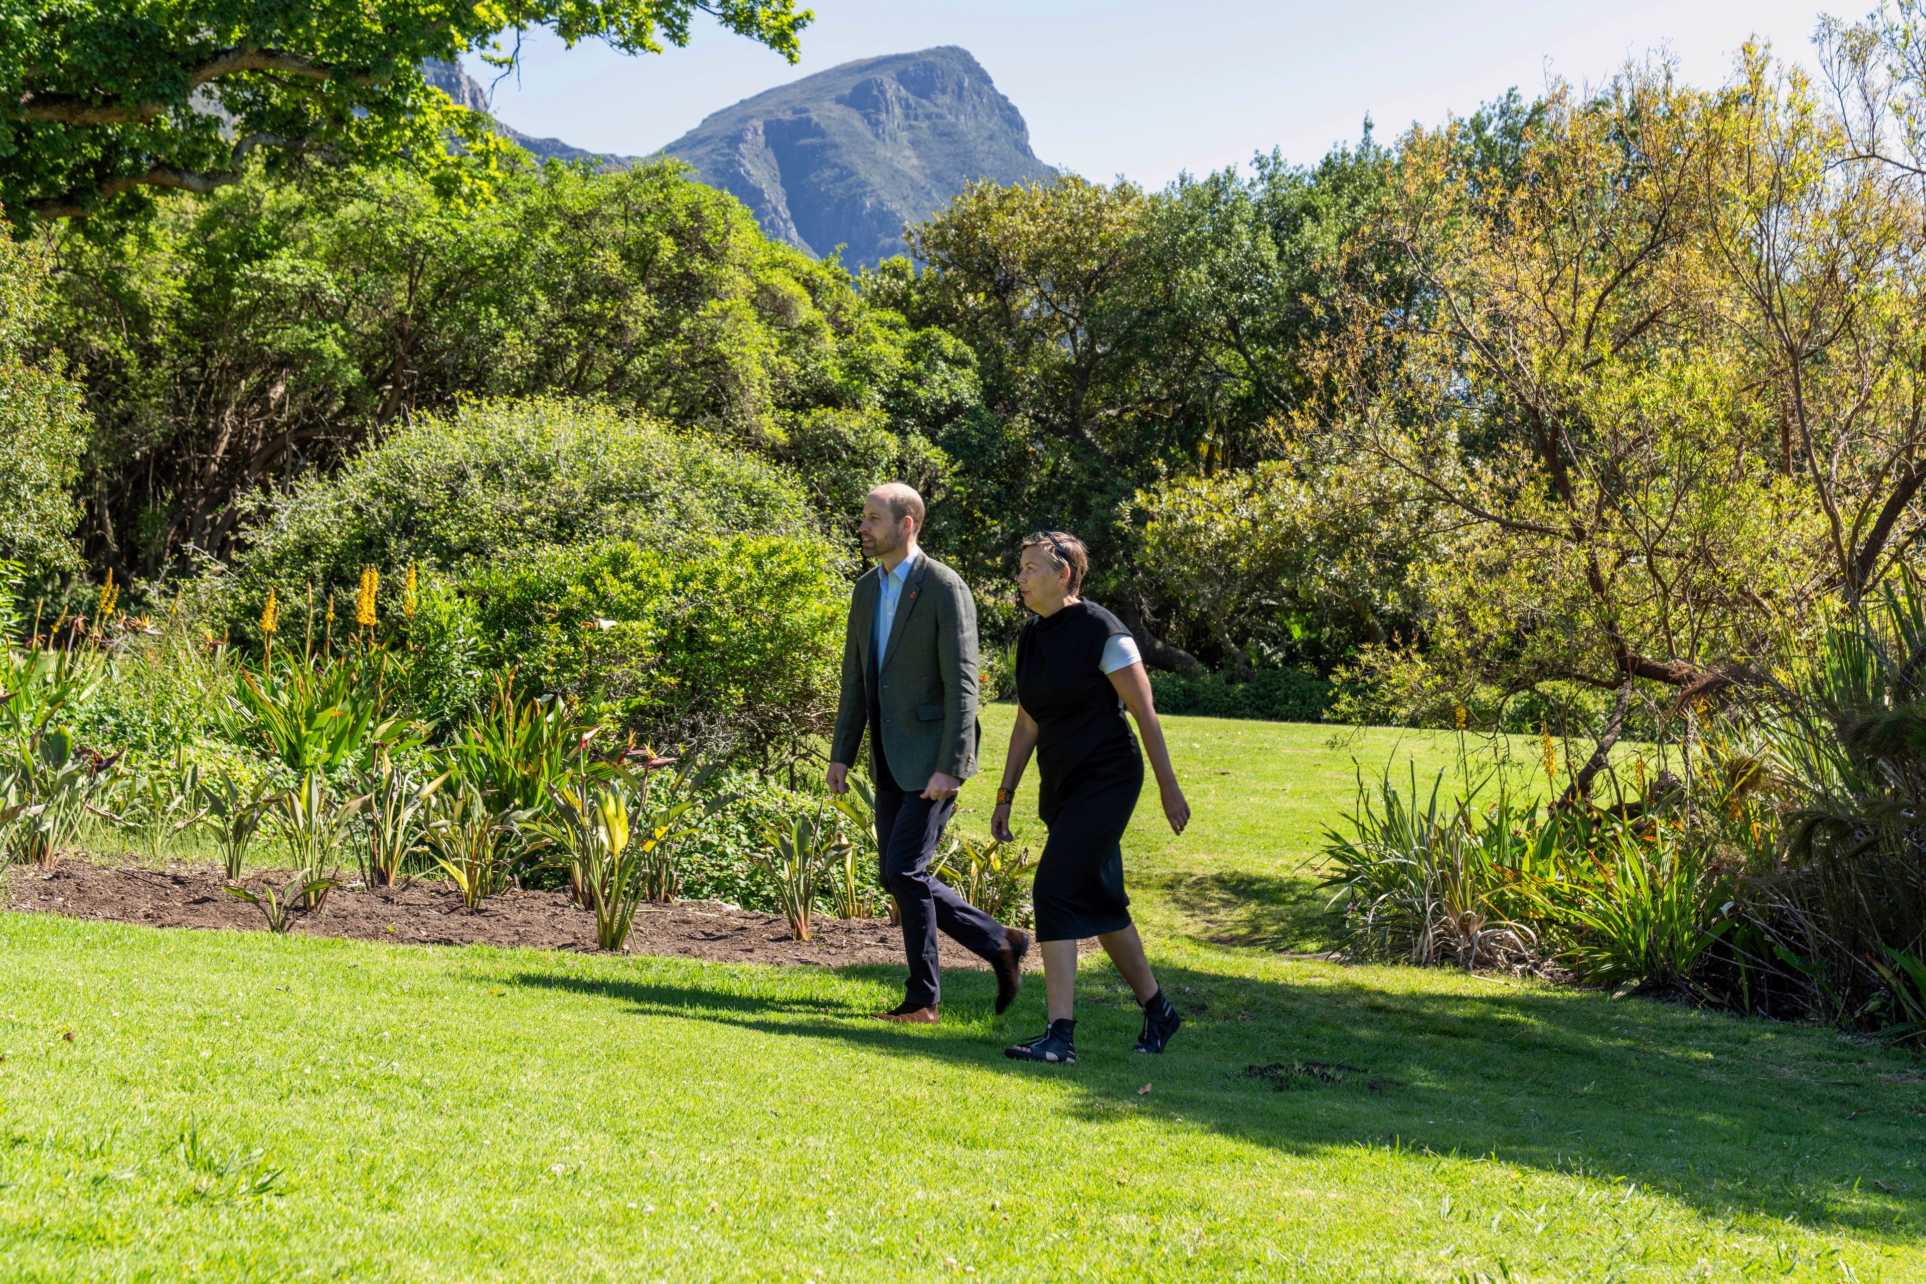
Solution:
<svg viewBox="0 0 1926 1284"><path fill-rule="evenodd" d="M953 570L923 552L923 497L892 481L863 501L857 535L876 564L855 581L844 637L842 699L828 787L849 787L869 733L876 785L882 886L903 914L909 988L882 1020L936 1024L942 928L996 970L996 1011L1017 997L1030 937L1005 928L930 876L957 789L976 774L976 599Z"/></svg>

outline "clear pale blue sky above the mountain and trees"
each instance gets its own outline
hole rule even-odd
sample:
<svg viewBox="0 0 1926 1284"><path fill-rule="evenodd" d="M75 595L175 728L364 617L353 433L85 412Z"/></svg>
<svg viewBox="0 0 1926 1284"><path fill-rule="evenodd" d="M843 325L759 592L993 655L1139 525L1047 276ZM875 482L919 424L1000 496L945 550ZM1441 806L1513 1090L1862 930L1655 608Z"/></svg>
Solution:
<svg viewBox="0 0 1926 1284"><path fill-rule="evenodd" d="M1830 6L1857 17L1872 0ZM711 112L853 58L961 44L1030 123L1036 154L1092 179L1158 187L1283 148L1312 162L1354 141L1466 114L1547 75L1599 81L1668 48L1691 83L1728 77L1758 35L1810 64L1810 0L815 0L803 60L701 19L688 48L624 58L524 44L495 112L537 137L647 154ZM472 67L483 83L493 73Z"/></svg>

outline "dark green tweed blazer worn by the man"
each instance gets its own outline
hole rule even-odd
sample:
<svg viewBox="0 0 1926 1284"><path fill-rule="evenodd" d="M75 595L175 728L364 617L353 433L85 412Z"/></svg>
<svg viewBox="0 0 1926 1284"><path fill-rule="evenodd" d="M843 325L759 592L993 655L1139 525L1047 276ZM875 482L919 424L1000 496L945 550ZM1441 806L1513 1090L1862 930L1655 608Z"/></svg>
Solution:
<svg viewBox="0 0 1926 1284"><path fill-rule="evenodd" d="M874 697L882 706L882 749L890 757L890 774L903 789L921 793L936 772L967 780L976 774L976 745L982 741L976 720L976 599L961 576L928 552L919 554L896 603L890 643L882 649L876 674L878 689L871 691L880 579L882 572L871 566L849 599L830 760L855 764Z"/></svg>

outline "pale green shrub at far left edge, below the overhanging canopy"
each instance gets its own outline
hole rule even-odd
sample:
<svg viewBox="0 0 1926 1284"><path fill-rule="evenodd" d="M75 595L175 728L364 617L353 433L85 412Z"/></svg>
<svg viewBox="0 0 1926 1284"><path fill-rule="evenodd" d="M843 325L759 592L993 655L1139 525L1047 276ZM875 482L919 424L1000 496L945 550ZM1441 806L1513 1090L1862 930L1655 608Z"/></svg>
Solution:
<svg viewBox="0 0 1926 1284"><path fill-rule="evenodd" d="M46 270L37 244L0 229L0 556L73 566L73 481L89 422L65 358L27 354L48 306Z"/></svg>

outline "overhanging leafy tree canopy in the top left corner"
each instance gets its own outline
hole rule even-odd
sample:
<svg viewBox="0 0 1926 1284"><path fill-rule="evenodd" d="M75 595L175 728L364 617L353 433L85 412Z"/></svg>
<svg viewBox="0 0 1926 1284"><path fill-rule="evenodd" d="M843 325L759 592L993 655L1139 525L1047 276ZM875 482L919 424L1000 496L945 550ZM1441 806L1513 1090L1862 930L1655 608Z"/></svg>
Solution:
<svg viewBox="0 0 1926 1284"><path fill-rule="evenodd" d="M790 62L811 19L794 0L0 0L0 202L75 218L137 189L206 193L262 148L439 164L451 133L493 139L422 60L510 65L501 37L537 27L653 54L695 13Z"/></svg>

